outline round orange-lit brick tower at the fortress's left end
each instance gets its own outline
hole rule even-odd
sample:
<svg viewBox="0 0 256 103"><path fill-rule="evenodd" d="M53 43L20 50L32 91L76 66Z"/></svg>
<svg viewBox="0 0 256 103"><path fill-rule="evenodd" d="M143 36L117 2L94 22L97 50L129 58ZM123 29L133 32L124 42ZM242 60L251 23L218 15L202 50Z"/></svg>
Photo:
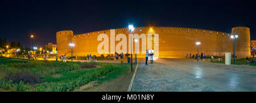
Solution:
<svg viewBox="0 0 256 103"><path fill-rule="evenodd" d="M71 53L69 49L69 43L72 42L73 31L59 31L56 32L57 40L57 54L58 56L64 55L65 53Z"/></svg>

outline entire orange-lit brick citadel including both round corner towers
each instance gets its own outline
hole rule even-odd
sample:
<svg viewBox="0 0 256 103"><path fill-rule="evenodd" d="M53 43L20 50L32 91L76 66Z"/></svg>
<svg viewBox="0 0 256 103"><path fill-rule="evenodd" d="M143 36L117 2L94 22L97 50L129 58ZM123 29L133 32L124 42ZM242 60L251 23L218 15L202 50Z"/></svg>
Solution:
<svg viewBox="0 0 256 103"><path fill-rule="evenodd" d="M233 40L230 35L238 35L236 55L238 58L250 57L250 29L234 27L232 33L179 27L136 27L133 32L133 53L137 46L137 57L144 57L146 50L154 50L155 57L185 57L199 53L206 55L233 55ZM71 55L69 43L74 43L73 55L86 56L100 54L130 53L130 31L128 28L108 29L73 35L73 31L56 32L57 54ZM134 43L134 38L138 42Z"/></svg>

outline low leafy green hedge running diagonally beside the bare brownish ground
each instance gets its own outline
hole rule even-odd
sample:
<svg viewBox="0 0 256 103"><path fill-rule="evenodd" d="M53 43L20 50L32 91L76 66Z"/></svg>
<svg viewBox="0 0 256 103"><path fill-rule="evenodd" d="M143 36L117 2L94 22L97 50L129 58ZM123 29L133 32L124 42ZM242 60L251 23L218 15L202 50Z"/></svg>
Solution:
<svg viewBox="0 0 256 103"><path fill-rule="evenodd" d="M107 66L105 68L98 68L95 72L85 74L79 76L79 78L68 80L67 82L51 82L49 86L47 85L37 85L36 91L38 92L65 92L65 91L73 91L75 89L79 89L82 85L89 83L90 81L97 80L101 76L106 75L108 72L112 72L117 67L113 67L112 65Z"/></svg>

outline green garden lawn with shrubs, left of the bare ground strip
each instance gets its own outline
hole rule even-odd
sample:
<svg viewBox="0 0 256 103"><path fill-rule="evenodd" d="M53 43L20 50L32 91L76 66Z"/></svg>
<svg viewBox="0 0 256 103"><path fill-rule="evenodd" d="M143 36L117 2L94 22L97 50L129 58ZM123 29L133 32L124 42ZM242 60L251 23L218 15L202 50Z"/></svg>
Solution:
<svg viewBox="0 0 256 103"><path fill-rule="evenodd" d="M32 61L1 58L0 88L5 91L74 91L90 81L97 84L127 74L127 63ZM96 65L96 68L82 68ZM104 78L103 78L104 77ZM0 90L1 90L0 89Z"/></svg>

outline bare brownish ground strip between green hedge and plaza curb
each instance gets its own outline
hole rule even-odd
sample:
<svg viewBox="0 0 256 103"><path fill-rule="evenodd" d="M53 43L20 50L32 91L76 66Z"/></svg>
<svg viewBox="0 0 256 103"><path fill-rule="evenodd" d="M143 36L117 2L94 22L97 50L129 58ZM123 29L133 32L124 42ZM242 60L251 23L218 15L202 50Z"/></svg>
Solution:
<svg viewBox="0 0 256 103"><path fill-rule="evenodd" d="M105 81L97 86L93 86L96 81L92 81L86 84L87 88L81 87L79 92L127 92L132 77L133 72L129 72L126 75L119 76L117 79Z"/></svg>

